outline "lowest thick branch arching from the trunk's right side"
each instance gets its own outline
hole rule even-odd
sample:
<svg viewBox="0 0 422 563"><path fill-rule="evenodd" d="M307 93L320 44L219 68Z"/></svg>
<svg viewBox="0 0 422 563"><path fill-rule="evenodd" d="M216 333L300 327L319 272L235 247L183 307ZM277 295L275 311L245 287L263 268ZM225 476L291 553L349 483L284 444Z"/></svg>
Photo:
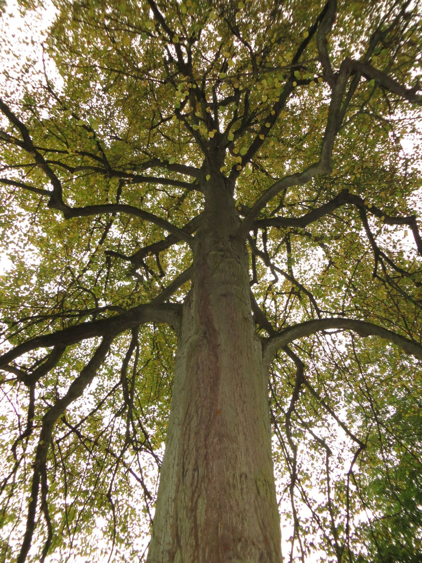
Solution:
<svg viewBox="0 0 422 563"><path fill-rule="evenodd" d="M293 327L282 330L270 338L264 339L262 346L264 361L270 363L273 354L275 354L275 352L280 348L284 348L284 346L288 345L290 342L327 329L353 330L362 337L379 336L380 338L384 338L397 346L401 346L407 354L422 360L422 346L414 340L401 336L400 334L397 334L392 330L388 330L387 328L380 327L379 325L367 323L366 321L334 317L328 319L309 320L305 323L296 324Z"/></svg>

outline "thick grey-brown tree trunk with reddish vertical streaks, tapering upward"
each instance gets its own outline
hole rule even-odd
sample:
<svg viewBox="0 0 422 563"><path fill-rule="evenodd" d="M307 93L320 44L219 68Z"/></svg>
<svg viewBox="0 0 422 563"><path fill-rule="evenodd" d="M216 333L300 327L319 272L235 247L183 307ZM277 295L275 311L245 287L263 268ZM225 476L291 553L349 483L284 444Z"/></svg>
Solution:
<svg viewBox="0 0 422 563"><path fill-rule="evenodd" d="M208 182L148 563L280 563L267 374L232 191Z"/></svg>

